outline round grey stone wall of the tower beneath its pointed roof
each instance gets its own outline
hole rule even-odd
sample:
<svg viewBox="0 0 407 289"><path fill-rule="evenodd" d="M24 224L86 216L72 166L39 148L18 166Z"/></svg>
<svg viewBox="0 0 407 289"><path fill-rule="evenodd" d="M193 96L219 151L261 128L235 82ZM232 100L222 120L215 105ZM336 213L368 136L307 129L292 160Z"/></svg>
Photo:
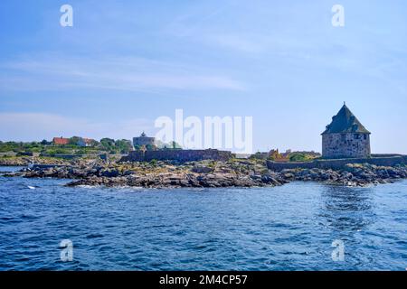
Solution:
<svg viewBox="0 0 407 289"><path fill-rule="evenodd" d="M369 157L370 135L351 133L322 135L322 155L326 158Z"/></svg>

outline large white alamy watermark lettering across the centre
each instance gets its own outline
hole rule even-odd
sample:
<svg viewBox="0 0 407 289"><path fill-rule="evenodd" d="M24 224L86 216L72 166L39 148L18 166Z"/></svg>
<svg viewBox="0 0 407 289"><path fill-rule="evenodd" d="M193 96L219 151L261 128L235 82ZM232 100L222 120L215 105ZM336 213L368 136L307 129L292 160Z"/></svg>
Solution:
<svg viewBox="0 0 407 289"><path fill-rule="evenodd" d="M161 128L156 139L188 149L215 148L251 154L253 150L252 117L185 117L183 109L175 109L175 120L158 117L155 126Z"/></svg>

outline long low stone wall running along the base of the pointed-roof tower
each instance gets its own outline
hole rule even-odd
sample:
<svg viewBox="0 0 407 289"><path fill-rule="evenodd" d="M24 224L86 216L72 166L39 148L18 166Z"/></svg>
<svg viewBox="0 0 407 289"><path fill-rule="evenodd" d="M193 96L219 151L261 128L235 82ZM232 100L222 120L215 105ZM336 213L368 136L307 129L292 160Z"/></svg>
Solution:
<svg viewBox="0 0 407 289"><path fill-rule="evenodd" d="M350 158L350 159L335 159L335 160L324 160L319 159L313 162L304 162L304 163L278 163L267 161L267 167L271 171L282 171L285 169L332 169L340 170L345 168L347 163L370 163L375 165L383 166L393 166L397 164L406 164L407 155L397 155L390 157L373 157L373 158Z"/></svg>

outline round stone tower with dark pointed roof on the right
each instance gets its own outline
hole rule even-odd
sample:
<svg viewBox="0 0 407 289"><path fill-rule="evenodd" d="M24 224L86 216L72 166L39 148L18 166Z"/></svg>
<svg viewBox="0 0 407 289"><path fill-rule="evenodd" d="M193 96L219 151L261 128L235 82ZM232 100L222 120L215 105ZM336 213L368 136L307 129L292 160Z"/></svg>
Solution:
<svg viewBox="0 0 407 289"><path fill-rule="evenodd" d="M322 133L324 158L370 157L370 132L357 120L348 107L339 110Z"/></svg>

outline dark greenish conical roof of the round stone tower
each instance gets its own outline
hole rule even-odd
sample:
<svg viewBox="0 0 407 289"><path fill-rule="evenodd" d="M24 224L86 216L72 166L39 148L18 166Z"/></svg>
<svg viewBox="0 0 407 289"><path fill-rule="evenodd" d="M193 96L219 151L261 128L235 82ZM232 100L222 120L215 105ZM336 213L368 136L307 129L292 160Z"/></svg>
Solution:
<svg viewBox="0 0 407 289"><path fill-rule="evenodd" d="M327 126L327 129L322 135L341 133L370 134L345 104L337 115L332 117L332 122Z"/></svg>

